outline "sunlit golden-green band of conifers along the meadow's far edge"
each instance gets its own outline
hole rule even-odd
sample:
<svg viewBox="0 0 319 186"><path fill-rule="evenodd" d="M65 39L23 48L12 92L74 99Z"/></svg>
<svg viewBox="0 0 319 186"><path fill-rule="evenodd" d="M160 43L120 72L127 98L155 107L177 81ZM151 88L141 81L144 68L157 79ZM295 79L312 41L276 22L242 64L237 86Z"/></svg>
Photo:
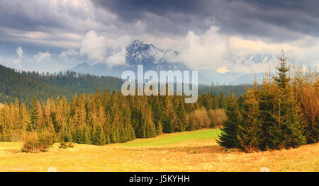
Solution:
<svg viewBox="0 0 319 186"><path fill-rule="evenodd" d="M21 141L26 134L36 132L51 134L61 142L123 143L214 127L217 124L213 118L225 105L223 93L206 93L197 103L185 104L184 96L123 96L107 89L103 93L75 93L67 100L63 95L45 102L34 97L30 105L19 103L17 98L14 103L4 103L0 110L0 140Z"/></svg>

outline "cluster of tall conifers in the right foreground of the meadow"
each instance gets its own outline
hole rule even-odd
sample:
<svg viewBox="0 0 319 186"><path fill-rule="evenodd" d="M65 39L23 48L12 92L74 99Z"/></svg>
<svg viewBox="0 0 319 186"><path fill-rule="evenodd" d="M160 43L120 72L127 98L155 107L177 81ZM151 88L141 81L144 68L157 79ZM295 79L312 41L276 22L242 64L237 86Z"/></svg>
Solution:
<svg viewBox="0 0 319 186"><path fill-rule="evenodd" d="M282 52L276 74L230 96L218 143L227 149L267 151L319 141L318 72L290 68Z"/></svg>

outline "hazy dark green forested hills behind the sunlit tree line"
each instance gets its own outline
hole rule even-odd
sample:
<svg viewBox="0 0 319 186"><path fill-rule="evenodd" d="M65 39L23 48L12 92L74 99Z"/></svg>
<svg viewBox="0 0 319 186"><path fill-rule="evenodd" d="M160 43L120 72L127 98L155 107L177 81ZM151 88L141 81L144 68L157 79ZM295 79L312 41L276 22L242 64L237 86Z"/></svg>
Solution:
<svg viewBox="0 0 319 186"><path fill-rule="evenodd" d="M18 98L20 103L30 104L35 96L39 101L65 95L67 100L74 93L95 93L96 89L104 91L119 91L123 80L111 76L94 76L66 71L57 74L40 74L35 71L16 71L0 65L0 103L10 103ZM198 82L201 83L201 82ZM246 92L245 85L199 85L198 94L211 93L228 96L232 93L242 95Z"/></svg>

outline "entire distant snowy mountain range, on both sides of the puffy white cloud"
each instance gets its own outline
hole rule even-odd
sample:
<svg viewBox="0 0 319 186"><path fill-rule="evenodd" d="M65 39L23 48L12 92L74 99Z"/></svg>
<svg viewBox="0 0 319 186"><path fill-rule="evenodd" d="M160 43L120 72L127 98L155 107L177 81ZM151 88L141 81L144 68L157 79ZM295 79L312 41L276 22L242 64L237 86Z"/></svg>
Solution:
<svg viewBox="0 0 319 186"><path fill-rule="evenodd" d="M125 70L137 71L137 66L142 64L144 71L168 71L168 70L189 70L189 68L182 62L172 62L179 52L174 50L162 50L155 45L145 44L140 40L134 40L125 47L125 64L109 66L106 62L98 62L95 64L82 63L74 66L69 71L76 71L82 74L106 75L121 77ZM257 81L261 81L263 73L259 74L245 74L235 72L238 65L250 64L267 64L274 60L270 54L250 54L246 57L237 57L230 55L225 58L225 61L233 63L234 69L229 69L225 74L218 73L213 70L198 71L198 83L225 83L225 84L241 84L252 82L256 76ZM266 69L265 69L266 71Z"/></svg>

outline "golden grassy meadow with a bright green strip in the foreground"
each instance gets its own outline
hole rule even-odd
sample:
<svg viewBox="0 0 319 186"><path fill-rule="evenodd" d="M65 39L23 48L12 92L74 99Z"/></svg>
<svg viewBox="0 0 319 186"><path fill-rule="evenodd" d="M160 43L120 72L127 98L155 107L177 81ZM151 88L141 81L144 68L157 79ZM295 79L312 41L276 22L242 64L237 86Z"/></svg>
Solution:
<svg viewBox="0 0 319 186"><path fill-rule="evenodd" d="M319 171L319 144L243 153L223 151L218 129L164 134L125 144L75 144L45 153L21 153L22 143L0 142L0 171Z"/></svg>

